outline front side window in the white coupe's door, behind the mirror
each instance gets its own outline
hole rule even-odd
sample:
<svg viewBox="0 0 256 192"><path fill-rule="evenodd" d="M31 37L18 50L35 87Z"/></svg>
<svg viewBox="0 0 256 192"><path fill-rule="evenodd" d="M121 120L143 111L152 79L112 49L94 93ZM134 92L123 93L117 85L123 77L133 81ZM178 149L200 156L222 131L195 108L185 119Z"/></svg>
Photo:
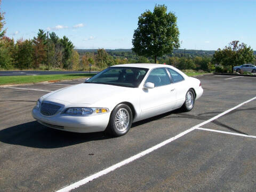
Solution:
<svg viewBox="0 0 256 192"><path fill-rule="evenodd" d="M171 84L170 77L167 74L165 68L153 69L145 83L147 82L154 83L155 87Z"/></svg>

